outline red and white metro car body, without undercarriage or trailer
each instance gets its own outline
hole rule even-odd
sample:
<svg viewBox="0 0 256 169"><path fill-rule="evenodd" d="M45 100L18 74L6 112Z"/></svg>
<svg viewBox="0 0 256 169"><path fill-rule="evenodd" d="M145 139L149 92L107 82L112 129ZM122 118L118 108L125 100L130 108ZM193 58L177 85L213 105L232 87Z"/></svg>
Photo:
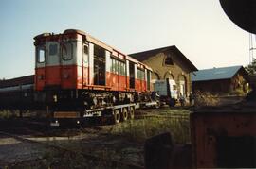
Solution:
<svg viewBox="0 0 256 169"><path fill-rule="evenodd" d="M150 92L151 68L81 30L34 38L35 89Z"/></svg>

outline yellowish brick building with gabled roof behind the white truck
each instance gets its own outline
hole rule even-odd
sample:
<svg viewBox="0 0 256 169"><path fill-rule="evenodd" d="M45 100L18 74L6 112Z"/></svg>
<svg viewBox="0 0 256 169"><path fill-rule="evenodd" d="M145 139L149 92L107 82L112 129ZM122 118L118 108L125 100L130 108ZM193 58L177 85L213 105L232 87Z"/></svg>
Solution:
<svg viewBox="0 0 256 169"><path fill-rule="evenodd" d="M153 68L153 83L155 80L174 79L178 93L184 96L191 93L191 73L197 71L197 68L175 45L138 52L129 56Z"/></svg>

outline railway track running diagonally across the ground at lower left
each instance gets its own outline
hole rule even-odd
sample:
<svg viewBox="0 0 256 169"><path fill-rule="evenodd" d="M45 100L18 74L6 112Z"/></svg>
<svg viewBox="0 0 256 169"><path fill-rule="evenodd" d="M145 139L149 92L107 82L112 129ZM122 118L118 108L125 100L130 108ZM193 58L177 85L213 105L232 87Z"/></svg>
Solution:
<svg viewBox="0 0 256 169"><path fill-rule="evenodd" d="M15 134L4 132L4 131L0 131L0 135L8 136L8 137L16 139L20 142L26 142L26 143L30 143L30 144L40 144L40 145L43 145L45 147L53 148L55 150L60 150L60 151L69 152L69 153L72 153L72 154L82 155L82 157L85 158L86 160L94 161L95 163L97 163L99 161L101 161L101 162L104 161L111 168L135 168L135 169L144 168L143 166L140 166L140 165L137 165L137 164L127 163L127 162L124 162L124 161L109 160L109 159L105 159L105 158L102 158L102 157L99 157L99 156L95 156L95 155L92 155L92 154L89 154L89 153L86 153L86 152L72 150L72 149L66 148L66 147L61 146L61 145L47 144L47 143L44 143L44 142L35 141L35 140L32 140L32 139L28 139L26 137L18 136L18 135L15 135ZM40 160L43 160L43 159L39 158L38 161L40 161Z"/></svg>

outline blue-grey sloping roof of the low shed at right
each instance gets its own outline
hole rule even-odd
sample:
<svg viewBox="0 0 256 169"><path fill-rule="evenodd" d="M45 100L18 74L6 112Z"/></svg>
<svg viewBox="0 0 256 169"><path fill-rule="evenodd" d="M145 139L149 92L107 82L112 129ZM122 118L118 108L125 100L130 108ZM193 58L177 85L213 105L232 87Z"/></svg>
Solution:
<svg viewBox="0 0 256 169"><path fill-rule="evenodd" d="M204 70L196 71L196 72L193 72L192 74L192 82L229 79L235 76L235 74L240 69L244 69L243 66L212 68L212 69L204 69Z"/></svg>

